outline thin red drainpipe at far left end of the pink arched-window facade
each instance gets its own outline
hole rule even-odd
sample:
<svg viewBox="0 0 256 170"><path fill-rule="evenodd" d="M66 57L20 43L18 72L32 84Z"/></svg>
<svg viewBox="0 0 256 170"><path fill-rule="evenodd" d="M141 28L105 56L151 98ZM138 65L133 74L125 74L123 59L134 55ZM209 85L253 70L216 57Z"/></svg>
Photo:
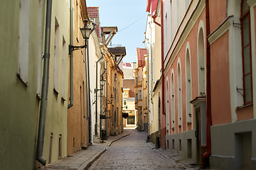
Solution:
<svg viewBox="0 0 256 170"><path fill-rule="evenodd" d="M161 106L162 106L162 114L165 116L166 113L164 112L164 0L161 0ZM165 120L164 120L165 122ZM164 139L166 135L166 130L164 130ZM165 140L164 140L165 142Z"/></svg>

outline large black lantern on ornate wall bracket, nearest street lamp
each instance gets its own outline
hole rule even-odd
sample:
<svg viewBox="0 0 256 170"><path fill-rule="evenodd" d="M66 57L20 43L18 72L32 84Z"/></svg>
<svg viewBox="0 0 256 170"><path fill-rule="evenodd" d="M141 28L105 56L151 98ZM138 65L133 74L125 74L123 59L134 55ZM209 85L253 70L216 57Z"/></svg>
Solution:
<svg viewBox="0 0 256 170"><path fill-rule="evenodd" d="M91 28L89 28L89 26L87 26L87 22L88 22L87 19L85 19L84 22L85 22L85 26L83 28L80 28L80 31L82 33L82 38L84 40L88 40L90 38L90 33L92 33L92 30L94 28L91 30ZM93 24L93 25L95 26L95 24ZM80 49L82 49L84 47L87 47L87 45L86 44L85 45L81 45L81 46L69 45L68 47L69 47L69 54L71 54L71 52L73 52L75 50L80 50Z"/></svg>

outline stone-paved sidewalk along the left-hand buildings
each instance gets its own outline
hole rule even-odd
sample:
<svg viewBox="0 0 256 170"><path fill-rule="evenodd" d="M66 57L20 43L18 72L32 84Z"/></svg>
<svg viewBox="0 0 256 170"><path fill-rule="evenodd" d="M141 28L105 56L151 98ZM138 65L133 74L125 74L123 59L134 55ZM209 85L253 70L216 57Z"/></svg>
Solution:
<svg viewBox="0 0 256 170"><path fill-rule="evenodd" d="M64 157L63 159L58 160L52 164L48 164L43 166L41 169L46 170L82 170L88 169L90 165L95 162L110 145L112 142L121 139L122 137L126 137L129 135L129 132L122 132L122 134L116 136L110 136L107 140L104 140L105 143L95 143L92 146L88 147L86 150L81 150L79 152L75 152L73 154L68 155L68 157Z"/></svg>

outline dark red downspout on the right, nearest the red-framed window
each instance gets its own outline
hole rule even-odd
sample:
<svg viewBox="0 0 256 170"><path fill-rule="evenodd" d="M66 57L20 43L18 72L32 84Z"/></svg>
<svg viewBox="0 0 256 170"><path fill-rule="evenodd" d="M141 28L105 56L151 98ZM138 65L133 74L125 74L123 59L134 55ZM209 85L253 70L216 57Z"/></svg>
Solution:
<svg viewBox="0 0 256 170"><path fill-rule="evenodd" d="M210 35L209 0L206 0L206 37ZM203 159L210 157L211 95L210 95L210 43L206 40L206 152Z"/></svg>

